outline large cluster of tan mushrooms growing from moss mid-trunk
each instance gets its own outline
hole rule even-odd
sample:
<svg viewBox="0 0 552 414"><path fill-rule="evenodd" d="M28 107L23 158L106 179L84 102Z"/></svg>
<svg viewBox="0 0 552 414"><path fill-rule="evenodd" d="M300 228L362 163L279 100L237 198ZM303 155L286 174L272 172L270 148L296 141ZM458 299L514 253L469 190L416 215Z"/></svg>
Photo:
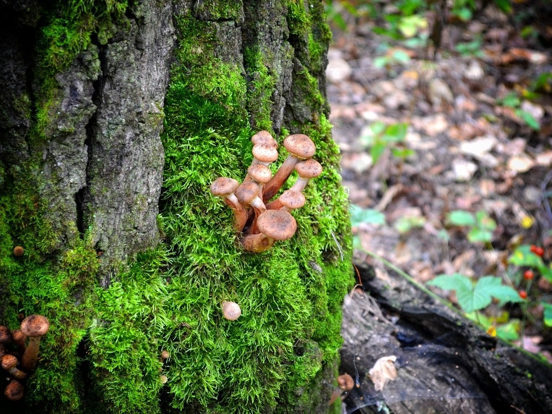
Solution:
<svg viewBox="0 0 552 414"><path fill-rule="evenodd" d="M289 155L273 176L268 166L278 158L278 143L268 131L257 132L251 142L253 162L243 182L219 177L211 184L211 193L232 209L234 229L243 249L263 252L274 241L288 240L295 234L297 224L290 210L305 204L302 190L309 179L322 173L322 166L312 159L316 147L308 136L289 135L284 139ZM299 178L289 190L272 200L294 170Z"/></svg>

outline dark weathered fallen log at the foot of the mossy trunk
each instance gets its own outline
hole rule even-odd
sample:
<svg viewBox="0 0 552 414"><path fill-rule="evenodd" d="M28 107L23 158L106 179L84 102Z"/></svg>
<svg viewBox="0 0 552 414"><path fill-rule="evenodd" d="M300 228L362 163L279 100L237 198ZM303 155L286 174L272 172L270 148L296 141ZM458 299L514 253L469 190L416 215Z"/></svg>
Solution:
<svg viewBox="0 0 552 414"><path fill-rule="evenodd" d="M343 304L341 370L359 387L347 412L550 412L552 370L482 332L392 272L359 266L366 293ZM367 374L395 355L397 378L375 391Z"/></svg>

